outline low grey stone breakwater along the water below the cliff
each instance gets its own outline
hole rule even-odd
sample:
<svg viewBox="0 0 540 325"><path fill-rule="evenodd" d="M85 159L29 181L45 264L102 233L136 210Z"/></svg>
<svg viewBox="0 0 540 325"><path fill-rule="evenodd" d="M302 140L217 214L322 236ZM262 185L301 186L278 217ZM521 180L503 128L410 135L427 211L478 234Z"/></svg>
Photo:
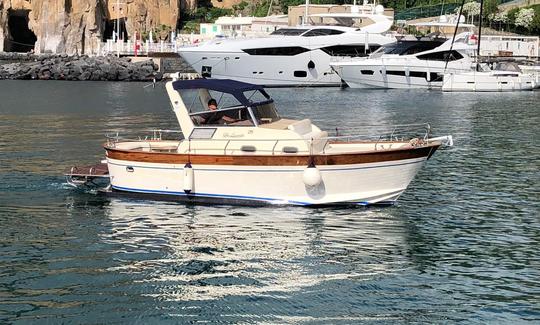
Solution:
<svg viewBox="0 0 540 325"><path fill-rule="evenodd" d="M149 81L163 75L152 59L132 62L130 58L86 55L0 55L0 79Z"/></svg>

